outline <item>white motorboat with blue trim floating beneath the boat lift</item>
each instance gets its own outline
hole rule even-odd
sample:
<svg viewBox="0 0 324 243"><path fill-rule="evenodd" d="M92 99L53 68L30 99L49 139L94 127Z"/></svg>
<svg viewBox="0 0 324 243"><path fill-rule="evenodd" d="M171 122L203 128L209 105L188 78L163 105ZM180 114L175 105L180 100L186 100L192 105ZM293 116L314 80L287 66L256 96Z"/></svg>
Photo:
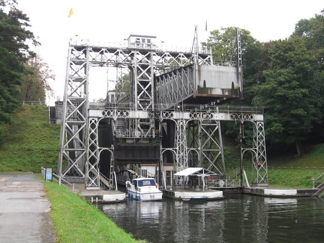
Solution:
<svg viewBox="0 0 324 243"><path fill-rule="evenodd" d="M140 177L126 181L126 194L135 200L152 201L161 200L163 193L154 178Z"/></svg>

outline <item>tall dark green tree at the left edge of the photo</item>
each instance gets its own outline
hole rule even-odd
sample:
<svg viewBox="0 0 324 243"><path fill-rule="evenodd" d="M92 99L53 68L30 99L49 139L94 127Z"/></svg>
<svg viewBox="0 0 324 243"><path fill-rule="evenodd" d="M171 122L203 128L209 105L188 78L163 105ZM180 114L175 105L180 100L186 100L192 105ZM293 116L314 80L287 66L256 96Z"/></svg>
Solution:
<svg viewBox="0 0 324 243"><path fill-rule="evenodd" d="M10 113L18 105L18 87L28 56L35 56L26 44L39 45L29 27L29 18L16 8L16 0L0 0L0 131L10 121ZM0 135L0 137L1 137ZM3 137L0 141L3 141Z"/></svg>

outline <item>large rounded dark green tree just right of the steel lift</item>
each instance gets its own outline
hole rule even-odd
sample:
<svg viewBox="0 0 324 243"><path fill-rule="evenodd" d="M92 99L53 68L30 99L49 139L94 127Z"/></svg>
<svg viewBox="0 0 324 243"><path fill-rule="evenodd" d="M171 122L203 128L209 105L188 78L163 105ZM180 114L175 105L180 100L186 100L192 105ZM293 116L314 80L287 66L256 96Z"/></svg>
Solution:
<svg viewBox="0 0 324 243"><path fill-rule="evenodd" d="M269 49L265 82L253 87L253 104L265 106L265 132L274 145L295 143L301 155L301 141L312 131L322 114L314 81L316 58L307 50L304 38L274 41Z"/></svg>

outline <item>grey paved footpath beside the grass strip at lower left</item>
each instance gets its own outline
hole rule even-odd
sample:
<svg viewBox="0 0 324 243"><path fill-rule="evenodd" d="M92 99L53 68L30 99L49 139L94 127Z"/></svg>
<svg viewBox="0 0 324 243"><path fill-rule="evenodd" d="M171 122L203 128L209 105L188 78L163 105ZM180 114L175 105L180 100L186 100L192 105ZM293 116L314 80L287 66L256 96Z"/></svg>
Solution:
<svg viewBox="0 0 324 243"><path fill-rule="evenodd" d="M0 174L0 243L54 243L43 190L35 174Z"/></svg>

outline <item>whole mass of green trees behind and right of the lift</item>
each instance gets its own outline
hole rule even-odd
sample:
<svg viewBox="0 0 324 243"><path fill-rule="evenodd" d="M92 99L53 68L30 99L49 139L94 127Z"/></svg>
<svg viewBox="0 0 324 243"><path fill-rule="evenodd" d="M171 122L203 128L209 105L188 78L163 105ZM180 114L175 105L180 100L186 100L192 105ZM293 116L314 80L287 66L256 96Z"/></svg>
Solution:
<svg viewBox="0 0 324 243"><path fill-rule="evenodd" d="M324 141L323 26L324 10L300 20L295 32L285 40L260 43L249 31L241 30L244 100L228 104L265 107L268 151L294 146L295 154L301 156L303 141ZM231 52L235 28L210 34L207 45L213 48L214 59L236 60ZM227 123L224 130L236 137L238 126ZM250 134L247 131L245 135Z"/></svg>

